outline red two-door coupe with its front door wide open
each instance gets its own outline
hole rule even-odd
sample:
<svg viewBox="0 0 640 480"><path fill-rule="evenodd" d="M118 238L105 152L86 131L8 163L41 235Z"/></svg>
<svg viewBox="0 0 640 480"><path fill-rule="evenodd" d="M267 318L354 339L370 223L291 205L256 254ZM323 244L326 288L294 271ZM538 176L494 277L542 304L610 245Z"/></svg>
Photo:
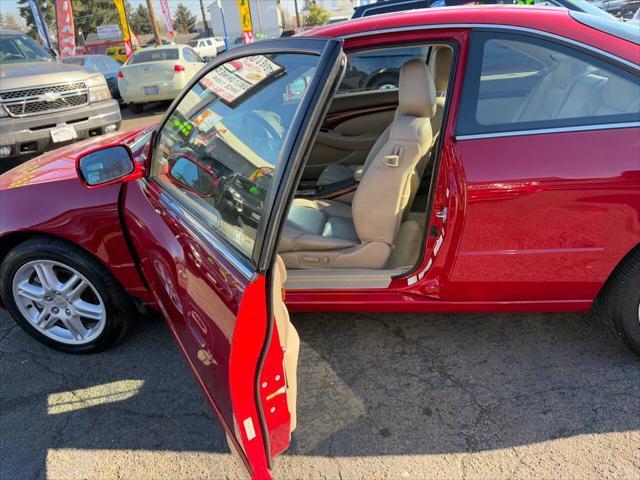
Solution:
<svg viewBox="0 0 640 480"><path fill-rule="evenodd" d="M162 312L255 478L296 423L287 310L599 301L640 352L638 45L581 13L473 7L234 49L158 126L0 177L4 306L69 352ZM398 88L341 83L395 49Z"/></svg>

